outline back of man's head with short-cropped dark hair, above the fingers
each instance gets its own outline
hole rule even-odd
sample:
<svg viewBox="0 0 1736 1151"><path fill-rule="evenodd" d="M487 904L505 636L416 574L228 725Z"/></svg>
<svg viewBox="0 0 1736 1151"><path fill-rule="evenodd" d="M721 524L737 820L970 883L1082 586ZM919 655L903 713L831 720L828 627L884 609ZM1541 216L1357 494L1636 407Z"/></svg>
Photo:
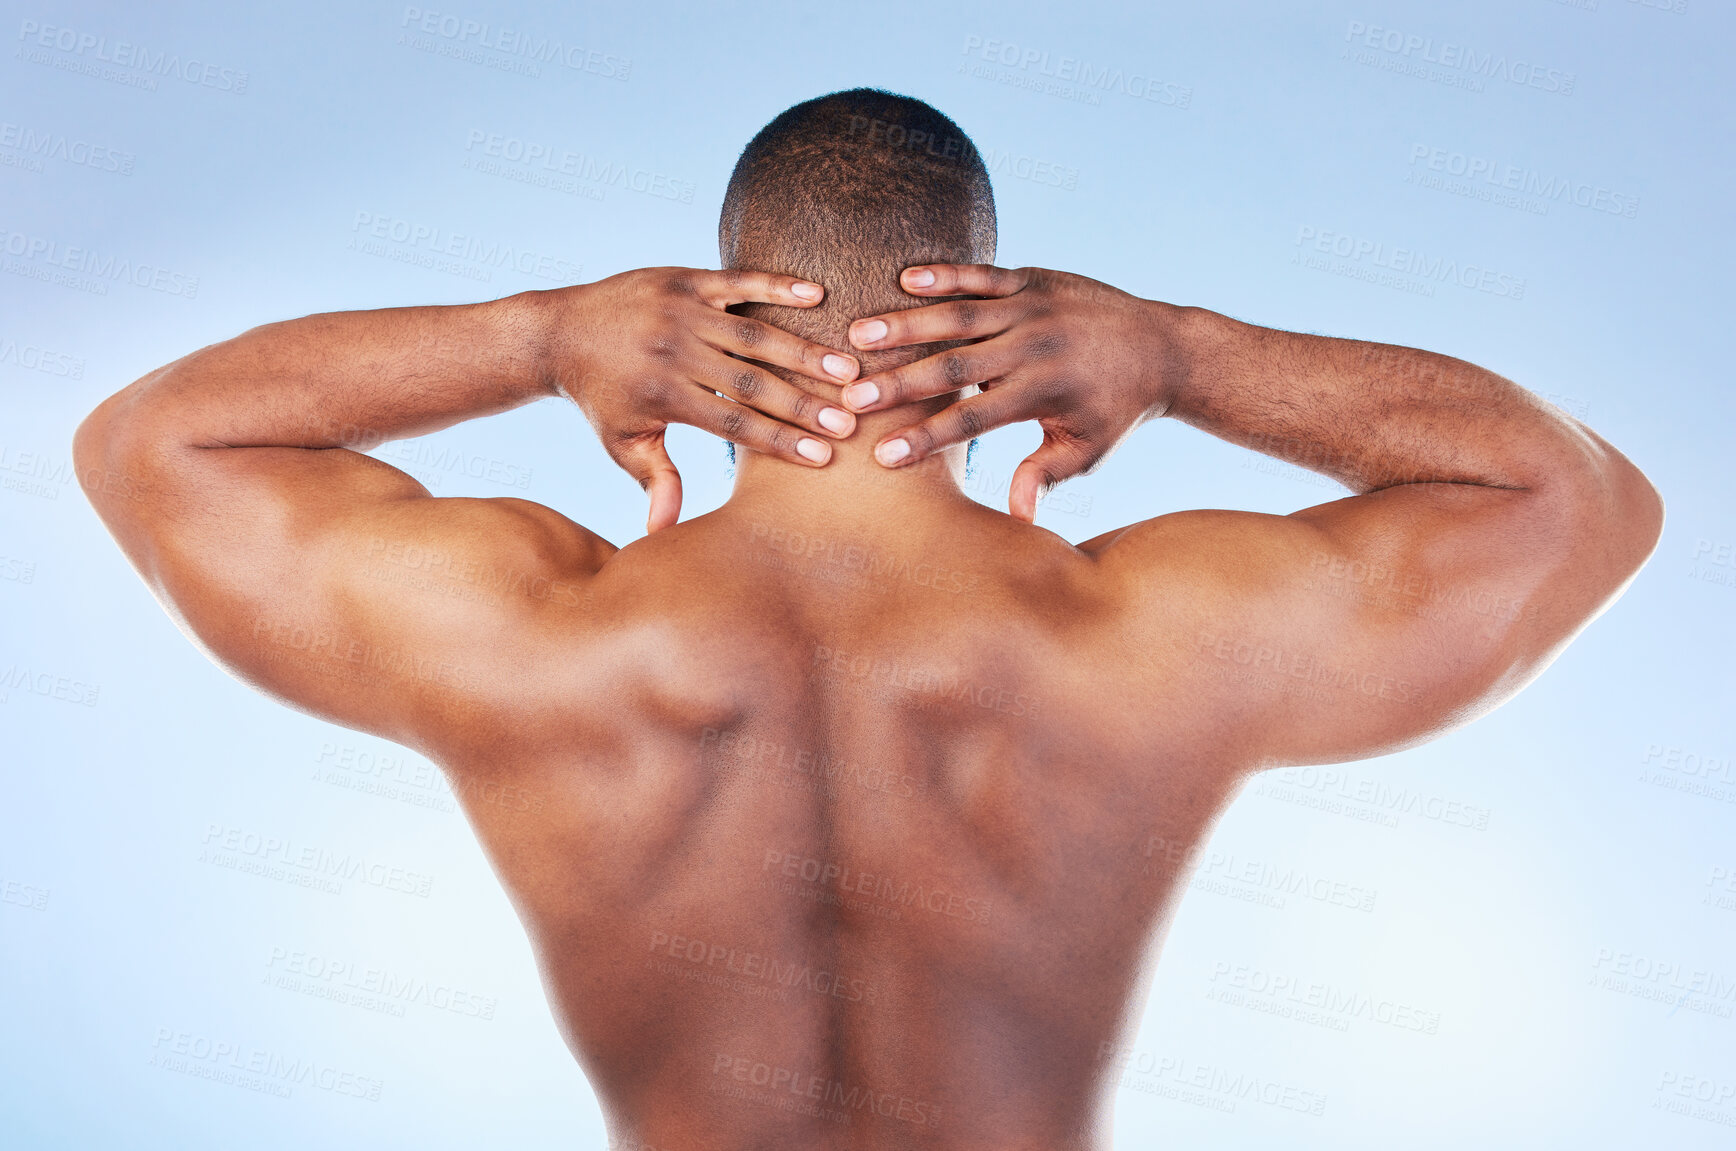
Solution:
<svg viewBox="0 0 1736 1151"><path fill-rule="evenodd" d="M819 307L733 311L852 351L852 319L924 304L911 264L995 259L995 196L970 139L922 101L851 89L790 108L748 142L717 224L724 267L825 285ZM863 354L875 372L934 351Z"/></svg>

